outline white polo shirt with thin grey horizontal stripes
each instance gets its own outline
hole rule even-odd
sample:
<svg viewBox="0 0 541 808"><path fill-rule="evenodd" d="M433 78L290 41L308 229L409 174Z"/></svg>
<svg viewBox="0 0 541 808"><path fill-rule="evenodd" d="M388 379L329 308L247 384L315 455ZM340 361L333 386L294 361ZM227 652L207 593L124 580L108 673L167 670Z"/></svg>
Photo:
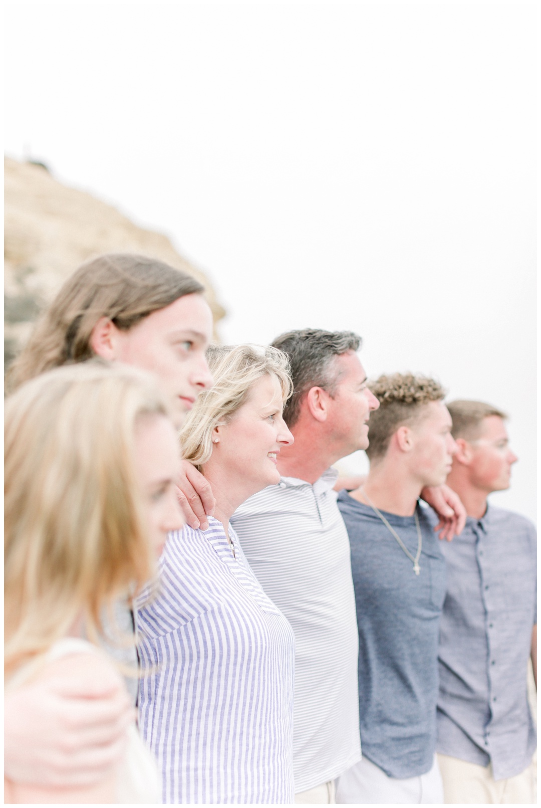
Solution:
<svg viewBox="0 0 541 808"><path fill-rule="evenodd" d="M296 638L293 768L296 793L361 758L359 634L350 543L328 469L310 485L282 478L231 520L252 570Z"/></svg>

